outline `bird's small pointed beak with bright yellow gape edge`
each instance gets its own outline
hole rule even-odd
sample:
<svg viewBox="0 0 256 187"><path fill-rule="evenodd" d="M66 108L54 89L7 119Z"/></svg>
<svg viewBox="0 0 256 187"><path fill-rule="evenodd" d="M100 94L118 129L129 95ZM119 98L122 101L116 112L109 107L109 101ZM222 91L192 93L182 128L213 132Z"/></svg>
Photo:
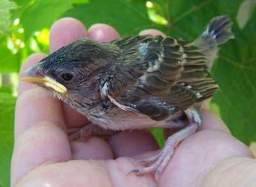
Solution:
<svg viewBox="0 0 256 187"><path fill-rule="evenodd" d="M51 79L51 77L45 76L41 73L40 69L38 68L38 65L29 68L24 73L20 74L19 79L24 82L29 82L31 84L38 84L45 87L51 87L58 93L66 93L67 88L57 82L54 79Z"/></svg>

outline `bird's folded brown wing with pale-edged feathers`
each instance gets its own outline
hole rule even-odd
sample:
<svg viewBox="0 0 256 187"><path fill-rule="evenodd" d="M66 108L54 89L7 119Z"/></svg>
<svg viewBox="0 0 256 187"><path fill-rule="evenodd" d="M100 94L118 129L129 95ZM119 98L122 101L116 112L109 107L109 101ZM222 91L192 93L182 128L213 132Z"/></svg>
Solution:
<svg viewBox="0 0 256 187"><path fill-rule="evenodd" d="M218 90L205 69L206 57L191 43L161 36L134 36L113 43L125 54L120 64L124 71L119 72L130 73L133 79L129 83L108 81L101 90L124 110L159 121L211 97Z"/></svg>

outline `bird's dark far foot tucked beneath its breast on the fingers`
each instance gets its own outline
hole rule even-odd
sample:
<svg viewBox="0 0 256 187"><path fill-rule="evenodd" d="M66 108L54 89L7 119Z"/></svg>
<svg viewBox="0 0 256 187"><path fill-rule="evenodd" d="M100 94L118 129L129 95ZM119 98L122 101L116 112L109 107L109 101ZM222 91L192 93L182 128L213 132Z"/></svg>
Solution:
<svg viewBox="0 0 256 187"><path fill-rule="evenodd" d="M79 138L89 138L92 136L112 135L115 133L113 130L106 130L92 123L81 128L70 128L67 132L68 140L70 141L77 140Z"/></svg>

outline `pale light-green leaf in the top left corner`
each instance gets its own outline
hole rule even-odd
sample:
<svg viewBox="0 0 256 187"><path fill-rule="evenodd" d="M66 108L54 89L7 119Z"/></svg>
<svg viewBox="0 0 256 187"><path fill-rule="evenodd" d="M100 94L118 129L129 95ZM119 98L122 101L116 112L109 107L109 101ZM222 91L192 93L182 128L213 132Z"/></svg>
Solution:
<svg viewBox="0 0 256 187"><path fill-rule="evenodd" d="M17 8L17 5L12 1L0 1L0 36L10 34L11 14L10 10Z"/></svg>

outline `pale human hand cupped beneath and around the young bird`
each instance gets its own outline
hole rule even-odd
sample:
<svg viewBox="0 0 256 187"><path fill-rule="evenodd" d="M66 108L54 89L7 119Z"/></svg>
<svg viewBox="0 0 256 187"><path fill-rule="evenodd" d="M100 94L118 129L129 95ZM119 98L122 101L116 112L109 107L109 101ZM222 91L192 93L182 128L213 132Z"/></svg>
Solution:
<svg viewBox="0 0 256 187"><path fill-rule="evenodd" d="M155 29L140 34L163 33ZM111 26L88 30L76 19L58 20L50 32L50 52L84 37L106 42L120 35ZM28 57L20 72L46 54ZM123 131L109 137L68 142L67 129L88 124L60 100L31 84L20 82L15 111L12 186L254 186L256 164L248 147L232 137L220 118L202 110L200 131L183 140L159 181L154 174L128 174L134 161L156 153L148 131ZM243 124L241 124L243 125ZM245 124L244 124L245 125Z"/></svg>

